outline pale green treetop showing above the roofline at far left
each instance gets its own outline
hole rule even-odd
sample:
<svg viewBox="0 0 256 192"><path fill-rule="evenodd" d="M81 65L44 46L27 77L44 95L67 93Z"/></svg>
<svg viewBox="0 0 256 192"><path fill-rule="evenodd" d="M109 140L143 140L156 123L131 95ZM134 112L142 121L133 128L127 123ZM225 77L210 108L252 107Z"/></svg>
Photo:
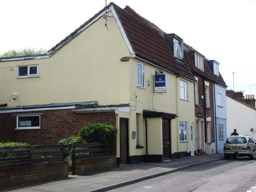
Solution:
<svg viewBox="0 0 256 192"><path fill-rule="evenodd" d="M9 50L5 52L4 54L0 55L1 57L16 57L16 56L26 56L26 55L40 55L40 54L46 54L46 49L34 49L34 48L24 48L20 50Z"/></svg>

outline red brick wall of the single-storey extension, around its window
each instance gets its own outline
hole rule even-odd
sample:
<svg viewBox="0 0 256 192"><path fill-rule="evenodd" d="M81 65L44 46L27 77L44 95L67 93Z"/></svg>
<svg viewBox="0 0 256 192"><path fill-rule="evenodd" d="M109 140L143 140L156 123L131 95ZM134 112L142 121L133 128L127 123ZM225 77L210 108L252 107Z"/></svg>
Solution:
<svg viewBox="0 0 256 192"><path fill-rule="evenodd" d="M57 144L62 138L77 135L82 127L92 123L116 126L115 112L76 113L72 109L22 112L40 113L41 129L15 130L18 113L0 114L0 142L26 142L30 145Z"/></svg>

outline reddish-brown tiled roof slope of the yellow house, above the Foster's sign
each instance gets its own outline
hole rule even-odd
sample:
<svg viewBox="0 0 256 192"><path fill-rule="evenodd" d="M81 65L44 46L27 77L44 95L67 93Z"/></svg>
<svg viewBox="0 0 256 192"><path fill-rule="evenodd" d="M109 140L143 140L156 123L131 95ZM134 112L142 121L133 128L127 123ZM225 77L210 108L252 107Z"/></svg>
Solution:
<svg viewBox="0 0 256 192"><path fill-rule="evenodd" d="M129 6L124 9L115 4L113 6L136 56L194 80L186 60L180 61L174 57L162 30L139 16Z"/></svg>

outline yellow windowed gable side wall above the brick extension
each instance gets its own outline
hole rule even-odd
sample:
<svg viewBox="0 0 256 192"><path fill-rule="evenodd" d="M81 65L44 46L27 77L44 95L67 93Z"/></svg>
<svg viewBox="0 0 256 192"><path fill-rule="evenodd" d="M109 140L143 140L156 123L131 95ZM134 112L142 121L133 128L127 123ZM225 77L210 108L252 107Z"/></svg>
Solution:
<svg viewBox="0 0 256 192"><path fill-rule="evenodd" d="M129 103L129 62L119 60L130 53L114 18L108 17L108 29L104 22L100 18L50 58L0 62L0 103ZM16 78L17 66L35 64L39 77Z"/></svg>

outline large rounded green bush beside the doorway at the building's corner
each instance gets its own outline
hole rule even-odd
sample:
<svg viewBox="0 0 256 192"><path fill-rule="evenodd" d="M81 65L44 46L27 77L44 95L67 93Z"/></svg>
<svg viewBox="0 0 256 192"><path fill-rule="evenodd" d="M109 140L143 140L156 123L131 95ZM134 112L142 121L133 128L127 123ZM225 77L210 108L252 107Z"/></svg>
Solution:
<svg viewBox="0 0 256 192"><path fill-rule="evenodd" d="M111 151L112 143L116 140L117 128L106 123L94 123L84 126L79 135L86 143L104 143L104 154Z"/></svg>

